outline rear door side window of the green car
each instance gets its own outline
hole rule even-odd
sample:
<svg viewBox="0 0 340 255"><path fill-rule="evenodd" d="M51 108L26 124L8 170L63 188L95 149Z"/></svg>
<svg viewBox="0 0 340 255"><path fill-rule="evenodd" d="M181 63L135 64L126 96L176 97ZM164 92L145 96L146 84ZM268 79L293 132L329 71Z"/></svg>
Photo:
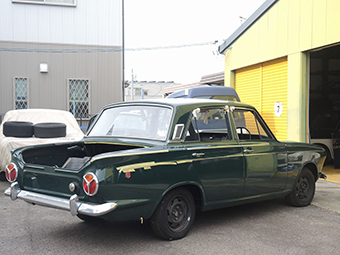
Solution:
<svg viewBox="0 0 340 255"><path fill-rule="evenodd" d="M224 109L195 109L186 141L221 141L230 138Z"/></svg>

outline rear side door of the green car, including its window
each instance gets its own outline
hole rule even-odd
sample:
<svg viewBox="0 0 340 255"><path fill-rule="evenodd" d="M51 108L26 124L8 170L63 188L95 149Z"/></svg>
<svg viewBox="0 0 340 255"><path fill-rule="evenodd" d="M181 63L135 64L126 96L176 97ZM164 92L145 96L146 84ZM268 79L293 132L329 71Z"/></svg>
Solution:
<svg viewBox="0 0 340 255"><path fill-rule="evenodd" d="M239 198L244 187L243 148L230 134L224 109L199 109L185 146L208 202Z"/></svg>

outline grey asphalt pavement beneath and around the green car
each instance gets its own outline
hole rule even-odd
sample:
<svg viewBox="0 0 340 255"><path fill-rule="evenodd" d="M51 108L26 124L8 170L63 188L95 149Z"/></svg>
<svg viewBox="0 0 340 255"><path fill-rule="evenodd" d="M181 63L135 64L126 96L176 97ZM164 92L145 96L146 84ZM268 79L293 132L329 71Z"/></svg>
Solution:
<svg viewBox="0 0 340 255"><path fill-rule="evenodd" d="M333 170L332 170L333 171ZM311 206L284 199L198 213L187 237L162 241L145 223L84 223L69 212L12 202L0 182L1 254L339 254L339 171L319 180Z"/></svg>

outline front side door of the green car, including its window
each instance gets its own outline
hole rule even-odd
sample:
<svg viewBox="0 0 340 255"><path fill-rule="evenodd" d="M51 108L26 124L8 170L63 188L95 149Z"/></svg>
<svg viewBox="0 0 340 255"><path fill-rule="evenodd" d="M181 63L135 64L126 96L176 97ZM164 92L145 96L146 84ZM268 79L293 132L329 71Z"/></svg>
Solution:
<svg viewBox="0 0 340 255"><path fill-rule="evenodd" d="M236 108L233 112L245 159L244 196L282 191L287 181L287 152L258 113Z"/></svg>

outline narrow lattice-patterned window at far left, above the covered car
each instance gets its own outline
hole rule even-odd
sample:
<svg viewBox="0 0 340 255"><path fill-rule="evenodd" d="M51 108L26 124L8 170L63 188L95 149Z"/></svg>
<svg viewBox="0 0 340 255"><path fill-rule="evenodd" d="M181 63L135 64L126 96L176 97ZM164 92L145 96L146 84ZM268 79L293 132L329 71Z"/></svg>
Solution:
<svg viewBox="0 0 340 255"><path fill-rule="evenodd" d="M14 109L28 109L28 78L14 78Z"/></svg>

